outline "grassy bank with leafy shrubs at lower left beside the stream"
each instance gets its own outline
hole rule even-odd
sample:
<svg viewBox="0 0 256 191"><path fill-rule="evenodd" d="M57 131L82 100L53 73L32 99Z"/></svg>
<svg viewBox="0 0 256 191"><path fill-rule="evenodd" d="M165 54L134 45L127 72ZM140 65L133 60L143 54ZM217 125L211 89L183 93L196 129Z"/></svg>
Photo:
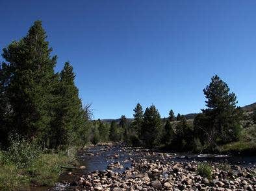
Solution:
<svg viewBox="0 0 256 191"><path fill-rule="evenodd" d="M0 190L28 190L31 185L53 186L64 172L60 166L75 163L75 149L55 153L36 151L36 155L27 146L21 146L21 149L0 151Z"/></svg>

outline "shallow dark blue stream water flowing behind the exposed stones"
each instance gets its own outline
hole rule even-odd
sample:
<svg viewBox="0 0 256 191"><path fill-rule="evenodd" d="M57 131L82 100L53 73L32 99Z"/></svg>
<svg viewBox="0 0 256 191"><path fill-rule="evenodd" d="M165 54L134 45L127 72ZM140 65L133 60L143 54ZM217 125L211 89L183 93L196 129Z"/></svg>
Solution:
<svg viewBox="0 0 256 191"><path fill-rule="evenodd" d="M256 156L244 157L244 156L228 156L228 155L212 155L212 154L192 154L192 153L166 153L159 152L157 150L147 150L142 148L129 148L123 144L114 145L99 145L92 146L86 150L81 150L78 153L79 163L81 166L85 166L83 169L74 169L71 175L68 172L60 176L60 182L56 183L53 188L31 188L31 191L42 190L73 190L72 183L76 181L81 175L87 172L93 172L95 170L107 170L110 163L119 162L124 168L116 168L114 171L122 172L125 168L131 167L131 159L148 159L159 161L177 161L177 162L189 162L189 161L209 161L219 163L238 164L241 166L256 166Z"/></svg>

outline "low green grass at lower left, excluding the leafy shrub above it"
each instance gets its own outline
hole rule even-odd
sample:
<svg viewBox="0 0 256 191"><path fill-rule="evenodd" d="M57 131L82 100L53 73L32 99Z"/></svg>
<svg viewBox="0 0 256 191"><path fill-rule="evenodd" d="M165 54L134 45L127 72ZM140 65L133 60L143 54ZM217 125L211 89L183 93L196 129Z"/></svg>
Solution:
<svg viewBox="0 0 256 191"><path fill-rule="evenodd" d="M63 168L70 165L73 159L64 153L40 154L27 167L5 160L6 153L0 152L0 190L25 190L32 184L52 186L58 181ZM2 159L2 160L1 160Z"/></svg>

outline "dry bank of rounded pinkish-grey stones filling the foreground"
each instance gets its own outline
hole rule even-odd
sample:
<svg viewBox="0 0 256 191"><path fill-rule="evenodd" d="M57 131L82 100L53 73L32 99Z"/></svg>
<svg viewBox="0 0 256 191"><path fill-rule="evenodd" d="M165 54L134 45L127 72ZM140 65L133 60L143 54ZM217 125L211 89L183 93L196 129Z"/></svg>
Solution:
<svg viewBox="0 0 256 191"><path fill-rule="evenodd" d="M252 169L232 166L229 172L213 163L212 180L203 178L194 170L197 162L176 163L147 161L133 162L124 172L95 171L77 181L77 190L256 190ZM194 167L194 168L192 168Z"/></svg>

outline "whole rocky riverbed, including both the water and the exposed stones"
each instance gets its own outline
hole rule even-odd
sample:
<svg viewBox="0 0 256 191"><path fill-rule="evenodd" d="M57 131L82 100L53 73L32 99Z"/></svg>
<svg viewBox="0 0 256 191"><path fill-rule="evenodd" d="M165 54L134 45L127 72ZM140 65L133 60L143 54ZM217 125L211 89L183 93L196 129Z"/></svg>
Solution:
<svg viewBox="0 0 256 191"><path fill-rule="evenodd" d="M73 180L55 190L256 190L255 161L235 161L237 165L229 163L227 156L197 155L198 160L191 156L93 146L80 153L84 170L68 172ZM202 163L212 166L211 177L198 174Z"/></svg>

